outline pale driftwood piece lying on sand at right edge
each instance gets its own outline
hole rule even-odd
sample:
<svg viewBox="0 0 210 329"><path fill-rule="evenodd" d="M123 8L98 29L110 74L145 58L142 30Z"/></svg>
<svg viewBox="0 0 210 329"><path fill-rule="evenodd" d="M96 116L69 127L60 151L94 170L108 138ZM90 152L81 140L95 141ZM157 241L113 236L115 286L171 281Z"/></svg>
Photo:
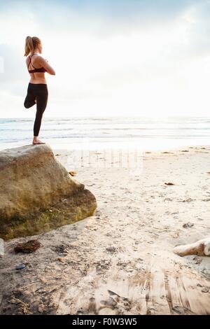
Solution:
<svg viewBox="0 0 210 329"><path fill-rule="evenodd" d="M210 255L210 237L196 241L194 244L185 244L182 246L176 246L174 253L180 256L186 255Z"/></svg>

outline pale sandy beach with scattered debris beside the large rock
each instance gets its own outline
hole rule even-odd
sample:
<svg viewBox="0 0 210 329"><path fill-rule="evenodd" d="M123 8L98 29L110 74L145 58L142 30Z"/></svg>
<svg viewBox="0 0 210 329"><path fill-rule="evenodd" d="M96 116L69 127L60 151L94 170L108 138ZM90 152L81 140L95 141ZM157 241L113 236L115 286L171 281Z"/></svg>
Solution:
<svg viewBox="0 0 210 329"><path fill-rule="evenodd" d="M210 258L173 252L210 236L210 146L148 150L141 166L67 167L95 214L5 242L0 314L210 314ZM41 248L13 251L29 239Z"/></svg>

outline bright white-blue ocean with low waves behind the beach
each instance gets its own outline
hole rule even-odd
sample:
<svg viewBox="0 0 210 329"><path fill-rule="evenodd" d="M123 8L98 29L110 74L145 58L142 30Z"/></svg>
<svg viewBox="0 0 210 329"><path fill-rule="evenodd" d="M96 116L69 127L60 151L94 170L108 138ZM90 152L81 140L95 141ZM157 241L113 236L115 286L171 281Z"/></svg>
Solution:
<svg viewBox="0 0 210 329"><path fill-rule="evenodd" d="M31 144L34 119L0 119L0 149ZM54 149L163 150L210 145L210 117L43 118L40 139Z"/></svg>

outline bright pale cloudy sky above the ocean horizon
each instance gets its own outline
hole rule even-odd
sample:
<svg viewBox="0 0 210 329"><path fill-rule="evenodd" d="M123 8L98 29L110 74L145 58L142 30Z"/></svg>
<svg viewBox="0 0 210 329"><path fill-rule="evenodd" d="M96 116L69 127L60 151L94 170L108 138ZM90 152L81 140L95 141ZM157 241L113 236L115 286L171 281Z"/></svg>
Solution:
<svg viewBox="0 0 210 329"><path fill-rule="evenodd" d="M45 117L209 116L210 0L0 0L0 118L34 117L26 36L38 36Z"/></svg>

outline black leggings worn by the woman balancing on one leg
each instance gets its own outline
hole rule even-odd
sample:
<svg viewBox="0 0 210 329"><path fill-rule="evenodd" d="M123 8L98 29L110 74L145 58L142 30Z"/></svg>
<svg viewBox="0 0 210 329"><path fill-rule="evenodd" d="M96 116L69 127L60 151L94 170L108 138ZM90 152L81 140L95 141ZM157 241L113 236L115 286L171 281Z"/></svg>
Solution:
<svg viewBox="0 0 210 329"><path fill-rule="evenodd" d="M34 101L36 99L36 102ZM34 121L34 136L38 136L41 119L48 104L48 86L45 83L29 83L24 106L26 109L36 104L36 118Z"/></svg>

